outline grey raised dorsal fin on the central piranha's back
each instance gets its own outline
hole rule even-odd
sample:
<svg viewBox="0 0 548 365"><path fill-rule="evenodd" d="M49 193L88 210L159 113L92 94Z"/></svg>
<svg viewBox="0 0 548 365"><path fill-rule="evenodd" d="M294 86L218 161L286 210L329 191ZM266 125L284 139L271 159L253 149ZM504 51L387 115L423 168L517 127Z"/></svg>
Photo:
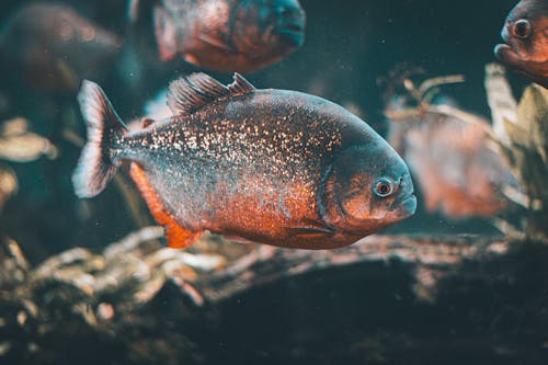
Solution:
<svg viewBox="0 0 548 365"><path fill-rule="evenodd" d="M239 73L235 73L233 80L227 87L203 72L185 76L170 83L168 106L173 114L191 114L215 100L243 95L255 90Z"/></svg>

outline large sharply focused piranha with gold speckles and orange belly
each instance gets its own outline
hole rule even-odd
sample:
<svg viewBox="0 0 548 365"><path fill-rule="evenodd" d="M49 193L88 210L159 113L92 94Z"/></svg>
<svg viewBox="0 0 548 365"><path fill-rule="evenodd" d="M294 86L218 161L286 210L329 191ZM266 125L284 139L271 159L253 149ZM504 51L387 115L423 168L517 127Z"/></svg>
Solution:
<svg viewBox="0 0 548 365"><path fill-rule="evenodd" d="M194 73L170 85L173 116L132 133L117 121L98 128L94 121L115 113L105 112L110 103L95 84L84 83L80 102L91 129L73 175L77 194L98 194L116 164L133 161L170 246L187 247L207 229L281 247L336 248L416 206L396 151L317 96L256 90L239 75L227 87Z"/></svg>

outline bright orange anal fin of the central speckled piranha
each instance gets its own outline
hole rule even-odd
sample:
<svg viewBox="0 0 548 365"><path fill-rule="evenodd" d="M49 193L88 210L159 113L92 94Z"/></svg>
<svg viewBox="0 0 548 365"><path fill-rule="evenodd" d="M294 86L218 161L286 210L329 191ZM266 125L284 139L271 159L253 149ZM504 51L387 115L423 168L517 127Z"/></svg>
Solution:
<svg viewBox="0 0 548 365"><path fill-rule="evenodd" d="M137 185L137 189L139 189L156 221L164 228L168 246L176 249L186 249L194 244L204 231L189 230L173 219L139 164L132 162L129 174Z"/></svg>

